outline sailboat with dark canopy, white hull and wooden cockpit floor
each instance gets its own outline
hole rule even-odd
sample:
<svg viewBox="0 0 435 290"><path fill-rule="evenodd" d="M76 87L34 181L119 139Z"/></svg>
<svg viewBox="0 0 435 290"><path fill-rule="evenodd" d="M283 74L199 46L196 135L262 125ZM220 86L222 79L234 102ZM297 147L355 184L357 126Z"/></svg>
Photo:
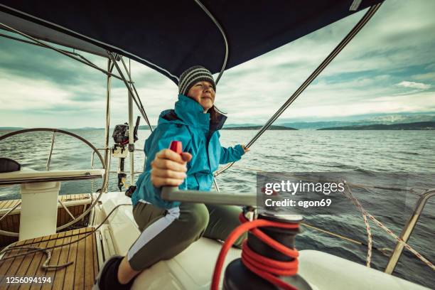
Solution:
<svg viewBox="0 0 435 290"><path fill-rule="evenodd" d="M85 143L97 155L102 168L46 171L26 168L8 156L1 159L0 186L20 185L21 199L2 203L0 235L5 238L1 251L0 285L26 285L30 289L91 289L104 261L115 254L125 255L140 231L131 213L131 199L124 190L108 192L109 168L112 158L130 159L130 170L119 171L119 183L129 173L134 184L134 118L133 106L153 128L124 58L136 60L165 75L173 82L192 65L204 65L218 73L216 81L229 68L260 57L281 45L327 26L335 21L366 9L364 16L310 77L294 92L257 135L249 147L266 131L301 92L331 63L333 58L361 30L380 8L380 0L327 1L143 1L125 5L102 1L12 1L0 0L0 28L8 31L1 36L55 50L65 57L95 68L107 75L105 147L100 150L89 141L61 129L35 128L12 131L0 136L1 141L30 131L49 131L55 136L68 134ZM16 33L17 36L11 36ZM198 35L208 33L210 41L199 43ZM19 37L18 37L19 36ZM199 45L200 44L200 45ZM58 45L73 50L64 50ZM107 68L100 68L80 55L80 51L107 59ZM213 57L210 57L213 55ZM119 128L127 139L109 147L111 80L124 82L129 95L128 126ZM124 131L122 131L124 130ZM127 154L128 153L128 154ZM231 166L225 166L222 173ZM81 195L59 195L60 183L99 179L100 190ZM218 184L215 182L217 191ZM428 192L419 200L421 213L426 200L434 195ZM255 219L252 205L255 195L232 193L203 193L192 190L165 188L162 198L194 203L242 205L246 216ZM18 219L19 216L19 219ZM275 217L278 218L279 217ZM299 217L284 218L284 222L300 222ZM418 220L418 217L417 217ZM392 276L397 259L409 235L407 229L417 220L409 220L404 235L397 242L390 258L390 274L326 252L303 250L299 252L299 269L293 275L299 289L425 289L410 281ZM75 225L74 230L65 230ZM139 274L132 289L209 289L222 284L223 275L212 280L215 262L222 243L207 238L194 242L173 259L158 262ZM222 268L240 258L242 250L227 249ZM49 259L48 259L49 258ZM264 282L274 287L274 284ZM268 284L269 283L269 284ZM246 284L254 289L254 284ZM275 285L277 289L278 286Z"/></svg>

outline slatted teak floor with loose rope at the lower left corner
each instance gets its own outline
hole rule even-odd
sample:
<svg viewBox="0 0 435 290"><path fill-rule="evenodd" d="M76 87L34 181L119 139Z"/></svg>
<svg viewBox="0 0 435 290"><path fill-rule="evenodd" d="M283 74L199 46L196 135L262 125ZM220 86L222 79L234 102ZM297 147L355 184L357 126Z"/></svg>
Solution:
<svg viewBox="0 0 435 290"><path fill-rule="evenodd" d="M50 247L53 245L62 245L73 242L86 233L93 230L93 227L84 227L78 230L60 232L55 235L37 237L35 239L23 240L16 245L29 245L36 247ZM77 235L78 234L78 235ZM49 265L65 264L73 261L70 266L45 271L41 267L47 259L43 252L28 254L26 256L16 257L9 260L0 260L0 289L92 289L95 276L98 273L97 245L95 232L79 242L71 245L51 249L51 259ZM15 250L8 252L4 257L26 252ZM51 283L45 284L28 283L28 284L8 284L8 277L50 277ZM11 281L11 278L9 278Z"/></svg>

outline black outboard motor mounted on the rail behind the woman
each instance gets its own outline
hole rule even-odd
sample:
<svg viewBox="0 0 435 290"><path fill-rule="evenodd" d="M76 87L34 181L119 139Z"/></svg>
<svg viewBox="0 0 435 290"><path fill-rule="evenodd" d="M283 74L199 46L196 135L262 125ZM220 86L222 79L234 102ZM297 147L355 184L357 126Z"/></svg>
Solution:
<svg viewBox="0 0 435 290"><path fill-rule="evenodd" d="M133 142L136 142L138 139L137 129L139 129L140 119L141 117L139 116L136 119L136 125L134 126L134 130L133 130ZM129 124L124 123L115 126L112 137L115 143L112 148L112 156L119 158L118 188L119 191L122 191L122 188L125 185L125 180L127 178L127 173L124 172L124 161L127 158L128 153L134 151L134 144L129 144Z"/></svg>

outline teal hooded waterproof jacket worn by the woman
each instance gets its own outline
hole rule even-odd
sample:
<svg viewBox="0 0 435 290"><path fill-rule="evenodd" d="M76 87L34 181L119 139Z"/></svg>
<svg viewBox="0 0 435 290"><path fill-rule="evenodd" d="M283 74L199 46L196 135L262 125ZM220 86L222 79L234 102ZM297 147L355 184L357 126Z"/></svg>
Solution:
<svg viewBox="0 0 435 290"><path fill-rule="evenodd" d="M203 113L203 107L184 95L178 95L175 110L161 112L156 129L145 141L145 169L137 182L136 190L131 196L133 205L144 200L160 208L173 208L179 202L169 202L160 197L161 188L151 183L151 161L161 149L169 148L171 141L181 141L183 151L192 154L187 163L187 177L178 187L190 190L210 190L213 173L219 164L238 161L245 153L241 145L224 148L220 145L219 129L225 117L218 114L217 122L210 122L210 114ZM175 112L175 114L174 114Z"/></svg>

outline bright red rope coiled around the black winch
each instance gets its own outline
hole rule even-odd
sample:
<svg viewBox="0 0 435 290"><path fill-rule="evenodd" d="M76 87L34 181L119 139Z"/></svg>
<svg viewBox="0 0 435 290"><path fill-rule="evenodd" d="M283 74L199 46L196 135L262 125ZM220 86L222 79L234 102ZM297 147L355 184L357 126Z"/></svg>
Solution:
<svg viewBox="0 0 435 290"><path fill-rule="evenodd" d="M267 245L276 249L276 251L279 251L288 257L294 258L294 260L291 262L281 262L264 257L253 252L252 249L249 249L247 241L245 240L242 246L243 264L245 264L249 270L258 276L266 279L278 287L281 287L282 289L296 290L294 286L287 284L275 275L293 276L296 274L298 272L297 258L299 257L299 252L296 249L290 249L281 243L276 242L276 240L273 240L271 237L264 234L264 232L259 230L257 227L281 227L284 229L298 229L299 224L276 222L272 220L253 220L252 222L249 222L243 214L240 214L239 220L242 222L242 225L236 227L235 230L230 233L230 235L227 237L227 240L225 240L224 244L222 245L222 249L220 249L218 260L216 261L215 265L215 272L213 272L211 289L219 289L219 278L220 274L222 273L222 266L228 250L230 250L235 240L237 240L240 235L242 235L244 232L250 231L253 235L258 237Z"/></svg>

